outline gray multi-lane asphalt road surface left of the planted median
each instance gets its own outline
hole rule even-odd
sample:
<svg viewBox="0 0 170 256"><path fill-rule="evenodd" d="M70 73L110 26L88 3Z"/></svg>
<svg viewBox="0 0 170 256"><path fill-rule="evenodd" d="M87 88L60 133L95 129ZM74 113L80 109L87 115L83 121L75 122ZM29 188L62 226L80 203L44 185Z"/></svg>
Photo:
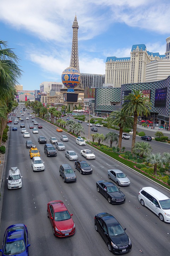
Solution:
<svg viewBox="0 0 170 256"><path fill-rule="evenodd" d="M13 118L14 119L14 118ZM9 142L6 158L6 174L2 186L4 186L4 198L0 225L0 244L3 241L3 234L7 226L16 223L27 225L29 232L30 255L50 256L98 256L111 255L107 245L94 227L94 216L100 212L108 212L118 219L120 224L126 228L126 233L131 239L131 256L160 256L170 255L170 225L163 223L149 209L142 207L138 201L138 192L142 187L152 186L170 197L169 191L159 187L152 181L140 176L134 171L122 166L111 158L93 150L96 160L87 160L93 169L91 175L81 175L78 170L77 182L64 183L59 176L61 164L68 163L73 170L74 161L65 157L65 151L57 151L57 157L50 158L44 154L44 144L38 143L38 136L44 135L49 143L50 137L60 138L61 133L56 132L56 127L35 118L42 123L43 128L39 134L33 134L29 129L31 120L25 120L26 129L30 132L30 139L40 150L40 156L44 161L44 172L33 172L29 149L26 148L26 138L21 133L20 121L18 130L12 131L12 124L9 132ZM85 133L88 134L87 124L83 124ZM108 130L101 127L98 131L104 134ZM64 132L63 132L64 133ZM65 142L66 150L74 150L79 159L85 160L80 155L81 149L89 149L89 146L79 146L75 138L68 134L69 141ZM131 145L131 141L126 143ZM155 142L152 142L155 143ZM164 150L165 151L165 150ZM159 146L160 152L160 146ZM7 189L7 172L10 167L17 166L23 176L21 189ZM121 191L126 196L126 202L121 205L111 205L96 190L96 181L108 180L108 169L120 169L125 172L131 181L129 187L122 187ZM56 238L52 234L52 226L47 218L47 203L52 200L62 200L70 213L73 213L73 220L76 232L67 238Z"/></svg>

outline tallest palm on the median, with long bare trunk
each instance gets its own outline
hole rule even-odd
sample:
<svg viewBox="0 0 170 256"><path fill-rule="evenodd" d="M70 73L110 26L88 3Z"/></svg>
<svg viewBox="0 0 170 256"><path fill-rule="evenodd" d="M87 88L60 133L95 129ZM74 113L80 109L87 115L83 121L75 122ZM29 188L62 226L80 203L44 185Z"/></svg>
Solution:
<svg viewBox="0 0 170 256"><path fill-rule="evenodd" d="M131 152L135 146L136 129L137 129L137 117L139 115L147 116L151 109L151 101L148 97L143 97L143 93L140 90L133 90L128 96L124 97L123 111L126 116L134 116L133 135L132 135L132 147Z"/></svg>

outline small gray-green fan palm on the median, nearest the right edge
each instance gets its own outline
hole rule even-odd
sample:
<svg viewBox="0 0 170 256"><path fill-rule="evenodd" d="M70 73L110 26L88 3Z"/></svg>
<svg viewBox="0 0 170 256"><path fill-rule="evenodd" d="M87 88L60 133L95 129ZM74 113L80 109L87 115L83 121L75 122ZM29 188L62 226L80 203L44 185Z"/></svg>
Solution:
<svg viewBox="0 0 170 256"><path fill-rule="evenodd" d="M146 158L146 161L149 162L154 166L154 175L157 175L157 166L159 165L160 167L163 166L165 162L165 156L162 156L160 153L156 154L149 154Z"/></svg>

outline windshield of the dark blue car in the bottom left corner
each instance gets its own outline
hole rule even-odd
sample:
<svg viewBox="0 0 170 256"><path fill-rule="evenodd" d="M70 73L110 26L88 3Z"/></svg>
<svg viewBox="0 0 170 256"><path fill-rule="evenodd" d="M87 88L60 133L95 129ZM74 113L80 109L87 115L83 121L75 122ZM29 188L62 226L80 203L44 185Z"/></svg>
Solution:
<svg viewBox="0 0 170 256"><path fill-rule="evenodd" d="M5 255L16 255L24 252L26 250L26 246L24 244L24 240L7 242L4 249Z"/></svg>

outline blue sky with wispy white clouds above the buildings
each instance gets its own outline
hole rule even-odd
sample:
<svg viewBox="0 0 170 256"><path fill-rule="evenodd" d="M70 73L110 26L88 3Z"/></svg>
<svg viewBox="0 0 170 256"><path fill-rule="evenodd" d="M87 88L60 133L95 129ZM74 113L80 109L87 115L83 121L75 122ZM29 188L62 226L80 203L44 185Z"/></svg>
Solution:
<svg viewBox="0 0 170 256"><path fill-rule="evenodd" d="M19 58L23 90L61 82L75 14L80 73L105 74L106 58L130 57L133 44L165 54L169 0L1 0L0 40Z"/></svg>

